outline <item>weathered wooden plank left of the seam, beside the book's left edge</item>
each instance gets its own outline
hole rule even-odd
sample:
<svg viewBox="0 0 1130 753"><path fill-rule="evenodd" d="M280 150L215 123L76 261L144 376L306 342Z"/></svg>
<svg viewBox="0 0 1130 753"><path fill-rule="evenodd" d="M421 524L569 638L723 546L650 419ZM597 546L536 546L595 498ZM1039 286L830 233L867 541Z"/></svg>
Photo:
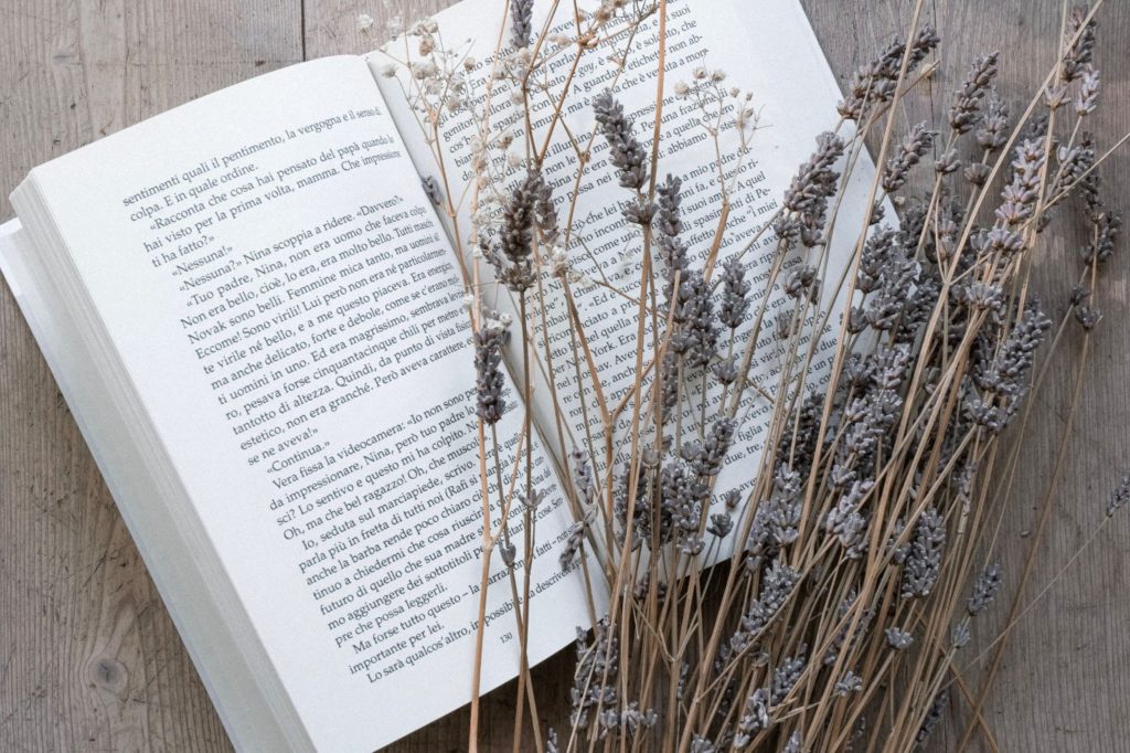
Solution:
<svg viewBox="0 0 1130 753"><path fill-rule="evenodd" d="M0 216L32 166L301 57L297 0L5 2ZM0 750L231 750L7 287L0 384Z"/></svg>

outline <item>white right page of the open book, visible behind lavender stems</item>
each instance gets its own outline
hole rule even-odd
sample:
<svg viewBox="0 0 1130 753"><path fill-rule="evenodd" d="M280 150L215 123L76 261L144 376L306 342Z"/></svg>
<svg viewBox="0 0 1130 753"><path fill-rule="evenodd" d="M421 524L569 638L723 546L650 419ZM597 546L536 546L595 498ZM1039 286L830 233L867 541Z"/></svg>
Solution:
<svg viewBox="0 0 1130 753"><path fill-rule="evenodd" d="M551 19L545 16L549 7L557 8L557 15ZM655 118L658 19L652 15L634 35L623 31L625 24L617 26L614 21L609 27L611 45L602 43L599 51L582 55L574 68L575 42L568 41L576 38L575 7L592 12L601 3L534 3L534 36L542 28L549 28L550 41L544 47L549 60L545 72L530 80L529 121L524 116L515 118L520 105L511 98L513 86L496 85L489 105L484 96L496 62L498 40L503 41L502 55L512 52L508 46L508 19L498 2L464 0L435 16L443 49L458 50L471 61L466 75L470 106L460 114L445 118L437 138L429 138L426 123L421 128L420 114L411 106L412 81L402 69L398 69L401 72L392 77L392 68L389 68L392 60L423 60L411 40L407 43L393 42L384 51L368 55L374 76L385 93L393 118L421 174L437 180L446 176L460 210L457 235L468 251L473 250L475 244L470 240L471 190L467 187L478 180L481 170L476 166L475 158L473 146L480 138L475 121L487 109L494 129L490 137L496 137L502 129L511 129L516 145L512 149L515 157L523 156L520 154L521 145L531 129L534 144L548 142L542 173L555 189L559 214L573 198L579 162L576 145L585 147L594 132L591 103L598 94L608 89L615 94L625 113L634 121L635 136L650 157ZM753 309L756 310L764 295L764 280L768 277L776 249L772 230L759 231L772 220L799 165L815 150L817 136L836 128L836 104L841 94L797 0L668 0L667 12L667 73L658 178L662 182L670 174L683 182L681 237L689 245L692 266L698 268L711 254L716 239L723 181L729 187L731 213L718 249L718 265L731 254L744 253L746 277L753 286ZM565 42L553 41L555 34L562 35ZM618 61L611 59L612 55L623 58L623 70ZM740 155L739 140L732 131L722 132L716 147L694 98L677 96L676 84L692 81L699 68L709 71L705 73L707 78L715 71L722 71L724 88L736 86L753 94L750 106L759 114L759 122L748 155ZM550 133L549 124L554 122L564 81L572 81L572 92L562 109L563 124L557 124ZM847 136L845 130L841 135ZM433 149L434 145L438 148ZM442 158L442 168L436 153ZM718 167L720 157L721 175ZM511 167L515 175L512 181L516 182L524 168ZM492 170L505 172L505 167L497 164L492 164ZM573 236L567 249L570 263L588 279L601 283L588 291L583 289L583 285L575 287L580 291L576 294L577 306L592 360L602 378L610 406L629 399L636 383L637 300L642 263L640 227L625 223L621 215L621 208L632 199L632 193L619 187L615 173L608 162L607 142L598 135L592 140L591 162L584 168L573 214ZM825 309L833 305L828 300L833 295L829 291L834 288L862 230L861 208L867 206L872 175L873 167L864 153L847 188L845 208L840 213L836 235L829 249L827 285L822 288ZM893 217L893 211L888 211L887 216ZM559 220L564 224L566 217L562 214ZM805 260L797 258L793 261L799 263ZM816 259L807 261L816 263ZM487 268L486 265L484 268ZM548 362L554 362L554 387L560 413L555 410L554 396L546 379L537 383L533 405L539 425L547 433L547 445L560 459L573 447L583 445L588 436L597 436L597 447L602 447L599 441L599 406L588 378L579 384L577 367L588 374L589 365L574 355L576 350L571 345L567 308L560 285L549 277L548 270L542 280L545 296L539 303L544 301L545 304L548 348L540 336L540 311L531 321L540 373L548 374ZM774 295L784 298L780 291ZM502 286L485 286L484 297L495 305L513 310L513 301ZM768 345L773 337L774 308L771 303L766 324L762 329L762 338ZM649 345L645 353L651 353L650 321L646 323ZM811 327L810 321L807 324ZM747 321L746 327L739 329L738 343L744 341L750 326ZM837 328L838 320L833 319L829 327L820 332L822 339L810 370L817 381L831 369L834 353L831 346L834 346ZM806 339L808 337L811 332ZM759 347L758 354L763 353L772 353L772 348ZM780 355L783 358L783 349ZM512 354L512 360L519 357L516 352ZM755 363L750 371L750 380L764 386L764 391L746 391L738 413L740 425L737 439L715 486L719 493L748 488L753 484L755 464L763 450L770 419L771 401L767 396L777 390L782 358ZM650 363L644 364L645 370L650 366ZM626 435L629 429L631 413L628 408L620 415L617 426L620 436ZM616 470L625 460L628 444L627 441L617 442ZM599 452L597 457L600 457ZM716 554L724 555L725 552L720 549Z"/></svg>

